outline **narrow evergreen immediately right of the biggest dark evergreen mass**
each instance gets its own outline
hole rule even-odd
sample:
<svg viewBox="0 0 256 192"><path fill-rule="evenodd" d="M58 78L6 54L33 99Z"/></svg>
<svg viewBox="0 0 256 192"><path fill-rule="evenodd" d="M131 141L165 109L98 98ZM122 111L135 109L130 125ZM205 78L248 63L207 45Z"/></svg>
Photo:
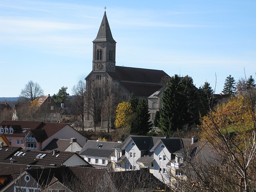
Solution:
<svg viewBox="0 0 256 192"><path fill-rule="evenodd" d="M198 93L200 115L203 117L217 104L217 100L213 97L213 90L208 82L204 82L203 87L199 87Z"/></svg>

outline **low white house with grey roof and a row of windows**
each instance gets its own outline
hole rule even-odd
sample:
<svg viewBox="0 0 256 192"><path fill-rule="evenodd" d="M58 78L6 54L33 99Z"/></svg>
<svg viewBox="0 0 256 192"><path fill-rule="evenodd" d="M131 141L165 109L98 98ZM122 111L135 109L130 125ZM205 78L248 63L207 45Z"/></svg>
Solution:
<svg viewBox="0 0 256 192"><path fill-rule="evenodd" d="M119 145L118 142L88 140L79 155L94 167L108 169L111 156L114 156L115 148Z"/></svg>

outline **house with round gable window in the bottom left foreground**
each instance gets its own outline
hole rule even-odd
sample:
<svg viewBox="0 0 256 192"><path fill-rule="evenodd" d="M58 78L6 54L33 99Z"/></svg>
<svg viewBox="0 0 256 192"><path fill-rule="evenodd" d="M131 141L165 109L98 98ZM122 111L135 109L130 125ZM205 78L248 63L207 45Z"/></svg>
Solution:
<svg viewBox="0 0 256 192"><path fill-rule="evenodd" d="M28 167L4 186L2 191L84 191L113 188L104 169L89 167Z"/></svg>

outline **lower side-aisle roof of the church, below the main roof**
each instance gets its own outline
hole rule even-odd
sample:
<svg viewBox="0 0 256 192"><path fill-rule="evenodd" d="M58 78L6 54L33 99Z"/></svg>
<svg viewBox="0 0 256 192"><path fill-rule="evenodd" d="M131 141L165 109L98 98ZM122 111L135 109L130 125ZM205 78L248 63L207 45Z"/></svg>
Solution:
<svg viewBox="0 0 256 192"><path fill-rule="evenodd" d="M120 84L127 89L130 93L135 96L148 97L152 93L161 89L163 85L161 84L146 84L146 83L131 83L131 82L120 82Z"/></svg>

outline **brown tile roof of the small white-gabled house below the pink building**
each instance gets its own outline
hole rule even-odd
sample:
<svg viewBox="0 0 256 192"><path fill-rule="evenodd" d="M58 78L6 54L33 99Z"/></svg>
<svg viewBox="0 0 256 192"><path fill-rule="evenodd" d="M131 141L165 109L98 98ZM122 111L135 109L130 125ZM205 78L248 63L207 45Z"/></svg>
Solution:
<svg viewBox="0 0 256 192"><path fill-rule="evenodd" d="M70 145L70 140L67 139L53 139L42 151L65 151Z"/></svg>

